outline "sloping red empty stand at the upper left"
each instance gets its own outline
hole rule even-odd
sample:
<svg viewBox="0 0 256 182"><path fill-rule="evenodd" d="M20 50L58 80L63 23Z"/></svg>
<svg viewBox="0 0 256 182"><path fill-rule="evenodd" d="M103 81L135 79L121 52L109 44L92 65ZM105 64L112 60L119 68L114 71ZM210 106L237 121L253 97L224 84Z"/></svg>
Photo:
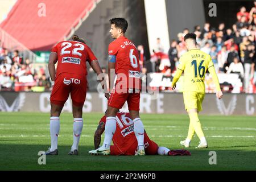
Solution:
<svg viewBox="0 0 256 182"><path fill-rule="evenodd" d="M43 1L46 11L41 14L42 1L18 0L0 27L28 49L49 50L63 40L72 28L93 9L94 0ZM34 14L34 16L31 16ZM44 36L42 36L44 35Z"/></svg>

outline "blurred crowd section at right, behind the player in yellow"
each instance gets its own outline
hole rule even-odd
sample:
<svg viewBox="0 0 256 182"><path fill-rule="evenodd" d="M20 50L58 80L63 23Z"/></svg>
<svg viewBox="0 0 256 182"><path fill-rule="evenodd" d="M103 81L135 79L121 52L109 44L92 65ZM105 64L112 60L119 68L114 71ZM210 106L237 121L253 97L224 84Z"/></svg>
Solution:
<svg viewBox="0 0 256 182"><path fill-rule="evenodd" d="M249 85L256 84L256 2L250 12L241 7L237 22L232 27L220 23L218 28L205 23L204 27L195 26L194 30L184 28L172 40L168 54L158 38L151 55L152 72L171 76L176 71L178 60L186 52L184 35L193 31L197 35L198 48L212 56L217 73L237 73L243 82L242 92L249 93Z"/></svg>

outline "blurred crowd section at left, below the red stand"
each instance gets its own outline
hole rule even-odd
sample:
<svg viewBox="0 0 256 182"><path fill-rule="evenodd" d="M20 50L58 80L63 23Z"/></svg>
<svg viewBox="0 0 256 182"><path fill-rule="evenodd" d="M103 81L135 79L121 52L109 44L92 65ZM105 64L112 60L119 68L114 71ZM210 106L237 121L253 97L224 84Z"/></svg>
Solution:
<svg viewBox="0 0 256 182"><path fill-rule="evenodd" d="M10 52L0 46L0 90L44 91L50 86L43 67L33 67L18 50Z"/></svg>

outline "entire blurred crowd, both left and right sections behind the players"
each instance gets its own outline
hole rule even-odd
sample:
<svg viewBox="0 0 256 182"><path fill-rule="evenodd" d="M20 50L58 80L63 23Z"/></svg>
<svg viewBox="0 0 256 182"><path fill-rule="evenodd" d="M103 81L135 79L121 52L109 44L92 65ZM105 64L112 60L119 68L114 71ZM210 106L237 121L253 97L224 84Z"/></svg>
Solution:
<svg viewBox="0 0 256 182"><path fill-rule="evenodd" d="M245 7L241 7L237 13L237 22L232 27L220 23L216 28L210 23L205 23L203 28L184 28L183 32L177 34L177 40L172 40L168 53L158 38L150 58L151 71L171 77L176 71L180 56L186 52L184 35L193 31L197 35L199 48L212 56L217 73L237 73L243 82L241 91L250 93L251 84L253 92L256 92L256 2L254 5L249 12ZM138 51L142 73L147 73L148 67L142 45L138 46ZM10 52L1 44L0 85L2 90L15 91L31 91L33 88L44 91L49 90L51 86L44 68L33 68L31 61L23 59L18 50Z"/></svg>

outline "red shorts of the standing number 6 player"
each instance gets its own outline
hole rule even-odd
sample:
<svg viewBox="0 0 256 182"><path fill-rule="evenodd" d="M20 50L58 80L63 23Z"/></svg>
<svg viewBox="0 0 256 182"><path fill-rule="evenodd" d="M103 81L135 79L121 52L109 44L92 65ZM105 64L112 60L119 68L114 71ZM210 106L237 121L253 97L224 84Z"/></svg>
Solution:
<svg viewBox="0 0 256 182"><path fill-rule="evenodd" d="M129 110L139 111L140 93L112 93L109 97L108 106L121 109L127 101Z"/></svg>

